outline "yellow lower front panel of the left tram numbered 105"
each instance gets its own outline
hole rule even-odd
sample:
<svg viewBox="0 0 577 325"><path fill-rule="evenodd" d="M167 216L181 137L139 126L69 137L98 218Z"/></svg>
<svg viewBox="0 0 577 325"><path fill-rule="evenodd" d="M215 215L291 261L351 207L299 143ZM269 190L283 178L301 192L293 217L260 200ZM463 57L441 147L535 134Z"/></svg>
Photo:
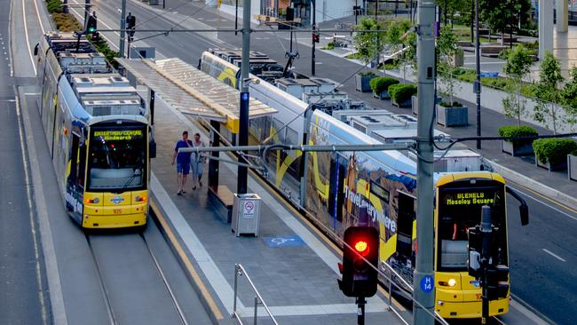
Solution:
<svg viewBox="0 0 577 325"><path fill-rule="evenodd" d="M83 227L116 228L146 225L148 191L85 193Z"/></svg>

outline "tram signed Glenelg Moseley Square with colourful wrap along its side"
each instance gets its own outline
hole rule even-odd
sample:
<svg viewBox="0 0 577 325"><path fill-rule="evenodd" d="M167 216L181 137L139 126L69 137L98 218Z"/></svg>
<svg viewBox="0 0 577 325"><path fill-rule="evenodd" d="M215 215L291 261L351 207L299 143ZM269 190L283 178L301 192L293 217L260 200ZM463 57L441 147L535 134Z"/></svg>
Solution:
<svg viewBox="0 0 577 325"><path fill-rule="evenodd" d="M204 52L203 72L231 86L239 84L238 67ZM256 76L251 76L256 78ZM308 105L273 84L250 83L250 95L278 110L273 116L250 121L252 140L268 144L299 144L303 139L304 111ZM381 141L319 110L312 113L309 145L377 145ZM258 142L257 142L258 143ZM311 152L271 150L268 172L263 175L285 197L306 211L306 215L335 242L344 231L368 219L380 236L379 260L383 273L413 283L416 242L416 163L398 151ZM304 170L301 169L304 166ZM299 176L304 177L304 186ZM506 194L520 202L521 216L526 203L505 185L501 175L489 171L434 174L435 184L435 311L444 318L481 317L481 289L468 272L469 227L481 220L481 208L491 208L498 229L496 258L509 266ZM304 198L304 199L301 199ZM525 221L522 223L525 224ZM391 274L389 267L395 271ZM384 281L384 278L382 278ZM491 315L509 311L509 297L490 302Z"/></svg>

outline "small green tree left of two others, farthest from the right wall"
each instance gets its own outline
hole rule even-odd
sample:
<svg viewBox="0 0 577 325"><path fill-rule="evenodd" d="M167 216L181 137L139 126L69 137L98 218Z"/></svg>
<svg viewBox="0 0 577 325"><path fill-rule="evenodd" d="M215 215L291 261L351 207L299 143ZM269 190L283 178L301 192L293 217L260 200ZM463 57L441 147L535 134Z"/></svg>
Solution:
<svg viewBox="0 0 577 325"><path fill-rule="evenodd" d="M382 24L378 21L365 18L360 20L357 25L360 30L380 30L383 29ZM357 57L365 65L368 65L372 60L378 58L384 49L384 33L377 32L358 32L353 37L353 43L357 47Z"/></svg>

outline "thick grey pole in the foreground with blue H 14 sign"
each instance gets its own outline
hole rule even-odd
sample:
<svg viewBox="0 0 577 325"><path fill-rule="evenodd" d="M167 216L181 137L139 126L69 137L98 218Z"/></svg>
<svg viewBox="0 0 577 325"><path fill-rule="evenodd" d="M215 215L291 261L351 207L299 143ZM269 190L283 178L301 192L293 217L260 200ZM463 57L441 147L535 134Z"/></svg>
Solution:
<svg viewBox="0 0 577 325"><path fill-rule="evenodd" d="M433 280L433 138L435 105L435 1L418 2L417 62L419 118L417 122L417 214L413 323L433 325L435 292Z"/></svg>

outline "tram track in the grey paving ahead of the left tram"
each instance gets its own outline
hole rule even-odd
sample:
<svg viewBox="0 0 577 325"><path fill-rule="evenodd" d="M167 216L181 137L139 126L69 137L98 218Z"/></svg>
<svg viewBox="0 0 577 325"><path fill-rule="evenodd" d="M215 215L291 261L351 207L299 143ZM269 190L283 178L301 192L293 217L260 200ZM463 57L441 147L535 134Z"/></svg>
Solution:
<svg viewBox="0 0 577 325"><path fill-rule="evenodd" d="M149 222L152 221L149 220ZM133 246L135 242L139 242L138 243L139 247L137 247L136 249L144 251L143 254L146 254L147 257L150 259L149 260L150 263L146 263L148 266L138 266L138 268L142 269L147 267L149 275L150 273L154 273L156 277L156 279L154 279L156 280L154 281L155 282L154 288L147 287L147 284L150 283L142 284L143 288L146 287L145 289L142 290L142 294L145 294L147 289L154 289L155 291L158 290L164 291L165 299L163 300L165 301L165 304L163 305L163 307L167 308L169 307L169 305L167 305L166 303L166 301L168 300L168 304L170 304L172 312L176 313L177 316L173 318L173 321L168 321L167 323L169 322L179 323L182 325L189 324L189 322L186 319L186 315L183 311L183 308L178 303L178 298L176 297L174 290L170 286L170 281L167 279L166 273L164 273L164 271L162 270L161 263L154 254L154 250L150 247L149 242L146 240L146 234L144 230L138 230L132 234L130 234L130 232L126 233L116 231L99 234L97 232L85 231L84 236L86 238L86 242L91 252L91 259L95 266L95 271L98 276L99 289L102 294L104 303L106 305L108 321L111 325L127 323L129 321L126 320L132 319L133 316L136 316L134 314L131 314L130 311L125 310L122 304L119 304L119 301L122 299L119 299L119 297L115 297L115 295L118 295L118 292L114 292L115 291L115 289L113 289L114 286L111 286L111 282L114 282L111 281L111 279L123 276L123 270L122 270L123 267L119 266L117 269L112 270L110 268L110 264L115 263L115 260L117 259L123 260L123 255L125 253L126 255L124 257L129 258L128 255L133 253L134 250L123 251L122 248ZM135 241L136 238L138 238L138 240ZM113 248L116 252L120 251L121 252L120 257L118 257L117 254L112 254L111 251L108 251L107 248L104 247L106 245L102 245L101 243L99 243L99 241L114 242L111 248ZM113 255L115 256L114 258L108 258ZM146 259L146 258L140 256L140 259ZM136 279L138 279L141 276L141 274L137 274L136 272L135 274L131 275L133 275L133 278L135 279L134 281L136 281ZM124 295L125 293L122 293L122 296ZM139 294L137 295L139 296ZM159 305L162 305L162 303L159 302Z"/></svg>

